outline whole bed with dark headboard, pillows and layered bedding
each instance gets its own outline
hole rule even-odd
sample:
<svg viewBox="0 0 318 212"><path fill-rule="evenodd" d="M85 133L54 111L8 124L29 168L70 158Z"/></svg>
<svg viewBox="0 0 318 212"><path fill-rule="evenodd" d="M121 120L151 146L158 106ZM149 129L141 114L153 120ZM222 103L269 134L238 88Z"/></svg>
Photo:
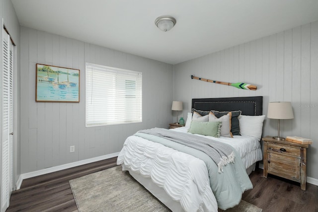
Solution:
<svg viewBox="0 0 318 212"><path fill-rule="evenodd" d="M262 99L262 96L192 99L192 113L188 113L185 127L137 132L125 141L117 164L122 165L123 170L129 171L131 176L173 212L216 212L218 208L232 208L239 204L242 193L252 188L248 174L255 168L256 162L262 160ZM215 119L212 122L216 124L210 123L211 120L200 120L207 116ZM227 134L229 129L225 128L229 116L230 128L233 128L230 129L230 136ZM238 123L234 123L235 120ZM201 127L202 124L209 125L209 129L210 124L213 124L217 129L215 132L218 135L221 132L221 136L215 138L210 134L196 134L194 126L199 126L196 130L200 131L205 128ZM238 130L235 129L237 125L239 131L235 132ZM202 149L191 146L193 143L184 146L181 141L172 142L166 137L149 134L151 130L159 134L173 134L169 139L175 135L181 140L184 135L204 143L208 140L209 143L224 143L228 150L230 146L234 161L225 157L227 162L218 164Z"/></svg>

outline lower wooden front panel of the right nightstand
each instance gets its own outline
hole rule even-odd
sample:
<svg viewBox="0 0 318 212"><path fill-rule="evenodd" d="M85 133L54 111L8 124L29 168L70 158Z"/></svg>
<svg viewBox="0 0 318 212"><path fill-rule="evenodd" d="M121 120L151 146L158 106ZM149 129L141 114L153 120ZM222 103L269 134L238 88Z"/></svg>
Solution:
<svg viewBox="0 0 318 212"><path fill-rule="evenodd" d="M268 152L268 173L300 182L300 158Z"/></svg>

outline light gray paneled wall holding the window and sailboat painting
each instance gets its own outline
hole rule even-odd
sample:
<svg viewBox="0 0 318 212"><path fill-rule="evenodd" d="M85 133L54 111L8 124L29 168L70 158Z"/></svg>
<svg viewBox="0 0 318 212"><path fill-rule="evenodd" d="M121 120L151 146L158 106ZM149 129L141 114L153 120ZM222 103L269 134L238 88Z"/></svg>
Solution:
<svg viewBox="0 0 318 212"><path fill-rule="evenodd" d="M142 123L85 128L85 62L143 72ZM36 102L36 63L79 69L79 103ZM115 153L138 130L168 128L172 88L172 65L21 27L21 173Z"/></svg>

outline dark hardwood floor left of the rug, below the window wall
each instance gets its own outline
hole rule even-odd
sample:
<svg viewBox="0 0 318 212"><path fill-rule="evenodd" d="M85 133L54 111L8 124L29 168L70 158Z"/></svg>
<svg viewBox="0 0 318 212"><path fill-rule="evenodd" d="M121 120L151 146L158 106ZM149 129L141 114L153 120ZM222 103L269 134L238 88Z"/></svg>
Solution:
<svg viewBox="0 0 318 212"><path fill-rule="evenodd" d="M25 179L6 212L77 212L69 180L116 166L117 157Z"/></svg>

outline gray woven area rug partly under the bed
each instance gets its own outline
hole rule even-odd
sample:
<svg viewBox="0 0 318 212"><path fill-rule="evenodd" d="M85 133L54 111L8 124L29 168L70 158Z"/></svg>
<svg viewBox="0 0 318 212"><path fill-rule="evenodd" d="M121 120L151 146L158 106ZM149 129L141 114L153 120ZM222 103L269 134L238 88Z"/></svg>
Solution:
<svg viewBox="0 0 318 212"><path fill-rule="evenodd" d="M121 166L70 180L70 185L79 212L170 212ZM235 212L261 212L244 201L240 205Z"/></svg>

